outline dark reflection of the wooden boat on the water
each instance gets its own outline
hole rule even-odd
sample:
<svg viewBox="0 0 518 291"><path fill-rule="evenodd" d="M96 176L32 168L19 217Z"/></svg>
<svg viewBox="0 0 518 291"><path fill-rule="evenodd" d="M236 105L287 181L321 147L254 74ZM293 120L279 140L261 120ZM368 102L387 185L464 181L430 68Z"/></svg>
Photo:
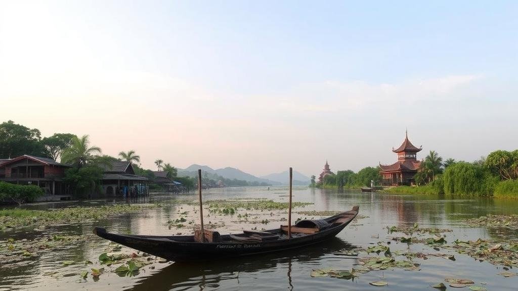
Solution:
<svg viewBox="0 0 518 291"><path fill-rule="evenodd" d="M241 273L269 273L275 271L279 278L278 269L286 268L285 285L292 290L294 284L291 276L295 264L316 264L318 261L332 256L334 252L352 250L354 246L339 238L312 245L304 249L288 250L282 254L263 254L225 261L210 261L203 263L173 263L126 290L188 290L198 286L200 290L206 287L221 287L223 281L235 280L239 284ZM266 274L266 277L268 275Z"/></svg>

